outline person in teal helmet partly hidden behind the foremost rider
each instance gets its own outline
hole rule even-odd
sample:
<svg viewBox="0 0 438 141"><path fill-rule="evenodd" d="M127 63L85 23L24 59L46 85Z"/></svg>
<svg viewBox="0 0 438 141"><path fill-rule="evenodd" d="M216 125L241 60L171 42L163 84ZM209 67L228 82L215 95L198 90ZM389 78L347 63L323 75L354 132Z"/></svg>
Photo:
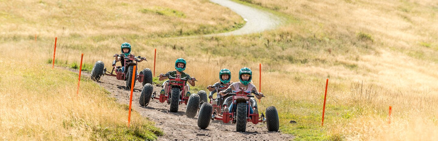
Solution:
<svg viewBox="0 0 438 141"><path fill-rule="evenodd" d="M208 91L210 91L210 95L208 96L208 98L212 99L214 93L228 88L228 86L230 86L233 83L233 82L230 82L230 80L231 80L230 70L229 69L221 69L219 71L219 80L220 80L219 82L217 82L213 85L207 86ZM219 87L213 87L213 86L219 86ZM228 97L228 96L226 96L226 97ZM223 97L222 100L225 100L226 97ZM219 96L219 95L216 96L215 103L217 103L218 105L221 104L221 103L219 103L220 100L221 100L221 96Z"/></svg>

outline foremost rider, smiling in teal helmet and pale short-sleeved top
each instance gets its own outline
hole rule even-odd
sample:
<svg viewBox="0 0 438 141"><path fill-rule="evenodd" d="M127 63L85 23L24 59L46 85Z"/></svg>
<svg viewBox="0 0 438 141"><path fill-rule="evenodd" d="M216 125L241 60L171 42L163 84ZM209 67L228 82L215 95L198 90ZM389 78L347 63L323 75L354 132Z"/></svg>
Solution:
<svg viewBox="0 0 438 141"><path fill-rule="evenodd" d="M228 87L228 89L220 91L219 94L222 95L222 96L226 96L227 95L226 92L231 92L231 91L239 92L240 91L239 88L244 88L244 92L246 92L246 93L251 93L252 91L255 91L255 93L258 93L257 88L255 87L255 85L251 83L251 79L252 79L252 71L251 71L251 69L249 69L247 67L244 67L244 68L240 69L240 71L239 71L239 80L240 80L240 82L235 82L235 83L231 84ZM257 97L257 99L260 100L261 97L263 96L263 93L258 93L258 95L255 95L255 96ZM229 99L230 98L227 98L224 103L226 103ZM248 105L248 108L250 109L250 113L251 114L254 113L254 112L258 113L257 103L256 103L255 99L254 98L250 98L250 101L252 103L252 105L251 105L252 108L249 108L249 105ZM232 111L233 110L233 105L234 105L235 102L236 101L233 101L233 103L231 103L230 108L228 109L228 111ZM225 110L227 110L227 109L225 109Z"/></svg>

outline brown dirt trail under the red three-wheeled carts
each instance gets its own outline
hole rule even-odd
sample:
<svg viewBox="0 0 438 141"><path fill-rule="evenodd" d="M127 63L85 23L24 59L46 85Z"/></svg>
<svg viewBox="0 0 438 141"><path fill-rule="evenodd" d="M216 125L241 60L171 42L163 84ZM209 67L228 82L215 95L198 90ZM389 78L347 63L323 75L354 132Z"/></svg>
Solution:
<svg viewBox="0 0 438 141"><path fill-rule="evenodd" d="M78 70L70 69L73 72ZM90 78L90 73L82 72L82 78ZM103 76L98 84L111 93L118 103L129 104L130 91L126 90L125 81L117 80L113 76ZM280 132L268 132L266 124L247 123L247 132L236 132L236 124L224 124L213 120L207 129L198 127L198 115L189 118L185 115L186 105L182 104L177 113L169 112L167 103L151 100L147 107L141 107L138 103L141 94L141 83L136 82L132 98L132 108L144 117L156 123L155 126L164 131L164 135L158 141L288 141L293 136ZM154 86L154 91L159 93L160 87ZM263 110L265 112L265 110Z"/></svg>

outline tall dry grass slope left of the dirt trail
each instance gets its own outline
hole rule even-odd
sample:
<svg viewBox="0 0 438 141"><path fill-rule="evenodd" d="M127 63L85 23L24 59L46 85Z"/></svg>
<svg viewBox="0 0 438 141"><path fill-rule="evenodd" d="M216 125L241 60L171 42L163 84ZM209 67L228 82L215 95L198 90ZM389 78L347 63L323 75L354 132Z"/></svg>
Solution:
<svg viewBox="0 0 438 141"><path fill-rule="evenodd" d="M127 127L125 105L91 79L46 65L42 52L2 45L0 137L4 141L155 140L153 122L134 112ZM17 53L21 52L21 53Z"/></svg>

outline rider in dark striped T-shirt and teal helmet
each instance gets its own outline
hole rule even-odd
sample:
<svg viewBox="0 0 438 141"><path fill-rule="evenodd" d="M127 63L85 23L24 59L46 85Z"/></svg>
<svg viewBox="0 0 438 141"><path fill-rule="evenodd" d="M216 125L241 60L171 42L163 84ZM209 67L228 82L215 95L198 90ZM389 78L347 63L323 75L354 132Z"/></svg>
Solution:
<svg viewBox="0 0 438 141"><path fill-rule="evenodd" d="M176 71L167 72L166 76L163 76L164 74L161 73L160 76L159 76L160 77L159 81L168 79L169 76L172 76L172 77L176 78L177 75L180 75L181 78L185 78L185 77L191 78L191 79L187 79L186 80L186 86L184 86L184 91L187 92L187 93L183 93L183 96L189 97L190 96L190 87L187 84L187 82L190 83L191 86L195 86L196 78L190 77L190 75L188 75L187 73L183 72L186 69L186 65L187 65L186 60L184 60L183 58L178 58L177 61L175 61L175 69L176 69ZM174 81L174 80L171 80L171 81L172 81L172 83L180 83L180 82L177 82L177 81ZM164 95L165 93L167 93L167 89L168 89L168 85L167 84L168 83L169 83L169 80L167 80L167 81L165 81L163 83L164 89L161 90L160 94Z"/></svg>

